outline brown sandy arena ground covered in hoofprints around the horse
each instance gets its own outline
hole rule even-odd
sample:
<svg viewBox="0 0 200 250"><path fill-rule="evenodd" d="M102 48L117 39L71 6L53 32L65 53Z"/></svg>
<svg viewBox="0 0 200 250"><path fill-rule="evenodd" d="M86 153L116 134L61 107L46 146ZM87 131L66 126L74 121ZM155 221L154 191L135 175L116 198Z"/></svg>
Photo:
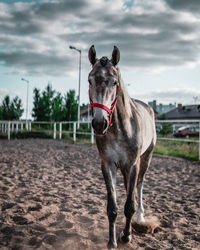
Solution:
<svg viewBox="0 0 200 250"><path fill-rule="evenodd" d="M199 249L200 166L154 156L144 185L154 234L118 249ZM0 141L0 249L106 249L106 189L96 147L61 140ZM117 235L125 191L118 173Z"/></svg>

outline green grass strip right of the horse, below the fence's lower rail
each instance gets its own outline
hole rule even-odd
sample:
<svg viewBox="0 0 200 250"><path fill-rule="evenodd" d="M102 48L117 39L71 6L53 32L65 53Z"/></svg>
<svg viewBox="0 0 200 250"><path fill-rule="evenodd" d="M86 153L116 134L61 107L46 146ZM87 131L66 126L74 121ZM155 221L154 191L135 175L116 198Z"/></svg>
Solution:
<svg viewBox="0 0 200 250"><path fill-rule="evenodd" d="M198 161L198 143L157 141L154 153L178 156L187 160Z"/></svg>

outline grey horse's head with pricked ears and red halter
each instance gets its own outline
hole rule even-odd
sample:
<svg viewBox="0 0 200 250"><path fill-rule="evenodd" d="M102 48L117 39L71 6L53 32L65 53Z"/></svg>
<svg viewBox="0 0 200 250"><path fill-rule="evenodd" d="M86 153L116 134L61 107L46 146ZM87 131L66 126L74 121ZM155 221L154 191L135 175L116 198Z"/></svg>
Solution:
<svg viewBox="0 0 200 250"><path fill-rule="evenodd" d="M88 58L92 64L88 76L90 104L93 110L92 127L96 134L103 135L112 125L112 114L117 104L119 77L116 65L120 59L120 52L114 46L111 59L105 56L98 59L92 45Z"/></svg>

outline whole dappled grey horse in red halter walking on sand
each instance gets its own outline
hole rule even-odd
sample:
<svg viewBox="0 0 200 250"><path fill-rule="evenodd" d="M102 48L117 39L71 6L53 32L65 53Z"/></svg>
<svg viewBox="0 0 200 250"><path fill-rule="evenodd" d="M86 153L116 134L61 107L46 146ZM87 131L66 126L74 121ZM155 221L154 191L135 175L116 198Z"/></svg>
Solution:
<svg viewBox="0 0 200 250"><path fill-rule="evenodd" d="M118 62L120 51L114 46L111 59L98 59L92 45L88 51L92 70L88 75L92 127L101 158L101 170L107 189L109 221L108 249L117 247L116 174L120 169L126 189L126 223L119 239L132 239L132 217L145 223L142 204L143 179L156 143L154 111L142 101L131 99L122 81Z"/></svg>

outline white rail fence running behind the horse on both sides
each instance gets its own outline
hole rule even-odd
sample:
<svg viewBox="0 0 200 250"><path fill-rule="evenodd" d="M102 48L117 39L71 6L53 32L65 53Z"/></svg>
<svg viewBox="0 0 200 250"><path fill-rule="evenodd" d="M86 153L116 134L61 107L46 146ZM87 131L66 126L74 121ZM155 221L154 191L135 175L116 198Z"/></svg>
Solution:
<svg viewBox="0 0 200 250"><path fill-rule="evenodd" d="M89 121L84 122L33 122L33 121L0 121L0 134L7 134L8 139L10 140L10 135L12 132L23 132L23 131L33 131L33 126L36 125L50 125L50 130L41 130L41 132L50 132L52 133L53 139L57 137L62 139L63 134L72 134L73 141L76 142L77 135L88 135L90 136L91 144L94 144L94 132L90 125ZM63 130L63 125L68 124L69 126L73 126L73 130ZM77 130L77 127L82 124L87 124L88 128L90 128L90 132L80 132ZM157 120L156 126L162 127L163 124L172 124L173 130L177 127L181 127L184 125L195 125L199 128L199 140L191 140L191 139L180 139L180 138L172 138L172 137L158 137L158 140L165 141L180 141L180 142L190 142L190 143L198 143L199 144L199 160L200 160L200 120ZM58 128L58 129L57 129Z"/></svg>

